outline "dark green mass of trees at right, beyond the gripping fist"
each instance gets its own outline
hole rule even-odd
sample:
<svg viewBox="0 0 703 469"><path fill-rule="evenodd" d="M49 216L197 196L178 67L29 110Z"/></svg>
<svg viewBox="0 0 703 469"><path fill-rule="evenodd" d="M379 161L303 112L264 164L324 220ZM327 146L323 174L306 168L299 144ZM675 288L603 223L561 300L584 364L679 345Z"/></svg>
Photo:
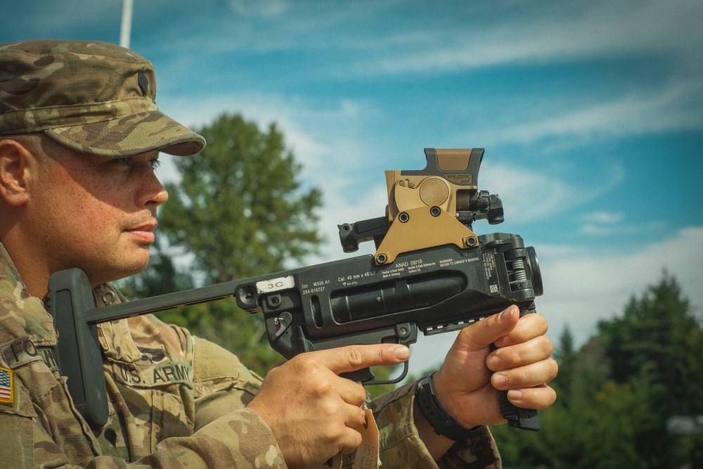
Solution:
<svg viewBox="0 0 703 469"><path fill-rule="evenodd" d="M703 418L703 328L673 277L631 298L579 350L566 330L555 358L557 402L540 412L541 432L492 429L506 467L703 467L703 431L668 427Z"/></svg>

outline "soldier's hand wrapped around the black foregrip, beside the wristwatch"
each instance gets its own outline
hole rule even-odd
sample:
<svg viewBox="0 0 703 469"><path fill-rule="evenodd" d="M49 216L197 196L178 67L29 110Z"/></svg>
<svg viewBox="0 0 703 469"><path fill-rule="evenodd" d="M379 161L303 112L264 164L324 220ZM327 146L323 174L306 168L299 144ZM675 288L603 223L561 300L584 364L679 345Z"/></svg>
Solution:
<svg viewBox="0 0 703 469"><path fill-rule="evenodd" d="M441 406L464 428L503 423L499 391L524 409L546 409L556 399L546 385L557 374L547 321L512 306L464 328L432 382ZM497 349L491 352L491 344Z"/></svg>

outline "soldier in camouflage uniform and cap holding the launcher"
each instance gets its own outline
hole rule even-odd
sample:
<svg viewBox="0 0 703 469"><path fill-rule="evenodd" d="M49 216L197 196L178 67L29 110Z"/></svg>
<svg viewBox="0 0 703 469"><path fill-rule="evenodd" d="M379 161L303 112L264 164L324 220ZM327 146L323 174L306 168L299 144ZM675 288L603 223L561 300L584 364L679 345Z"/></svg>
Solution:
<svg viewBox="0 0 703 469"><path fill-rule="evenodd" d="M91 429L58 373L44 308L53 272L78 267L96 304L110 281L141 271L167 193L159 153L204 139L157 110L152 65L112 44L0 46L0 458L8 467L304 468L361 444L363 387L339 373L408 359L401 345L300 354L262 380L221 347L155 317L98 327L108 423ZM371 403L384 468L500 467L485 425L555 400L545 383L546 321L517 308L461 331L432 377L435 432L417 383ZM491 344L496 350L491 351ZM435 462L437 461L437 462Z"/></svg>

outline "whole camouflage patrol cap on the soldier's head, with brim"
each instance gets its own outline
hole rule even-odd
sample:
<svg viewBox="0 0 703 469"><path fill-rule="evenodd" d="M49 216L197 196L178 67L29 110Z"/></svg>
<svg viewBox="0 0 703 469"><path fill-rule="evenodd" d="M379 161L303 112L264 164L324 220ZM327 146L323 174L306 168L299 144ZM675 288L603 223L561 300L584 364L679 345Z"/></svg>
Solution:
<svg viewBox="0 0 703 469"><path fill-rule="evenodd" d="M205 139L161 113L151 63L115 44L0 44L0 136L44 132L91 155L193 155Z"/></svg>

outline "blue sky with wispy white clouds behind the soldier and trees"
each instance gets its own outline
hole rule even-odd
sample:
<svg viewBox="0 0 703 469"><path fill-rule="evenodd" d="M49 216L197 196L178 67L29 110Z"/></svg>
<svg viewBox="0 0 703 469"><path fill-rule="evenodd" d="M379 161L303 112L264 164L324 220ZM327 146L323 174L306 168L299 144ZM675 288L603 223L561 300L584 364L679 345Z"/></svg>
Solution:
<svg viewBox="0 0 703 469"><path fill-rule="evenodd" d="M0 42L120 40L118 0L7 3ZM325 198L311 263L345 256L338 223L384 213L385 169L486 148L506 221L474 230L534 245L550 336L580 345L664 269L702 316L700 18L685 0L134 0L131 49L181 122L278 123ZM450 339L420 338L413 368Z"/></svg>

